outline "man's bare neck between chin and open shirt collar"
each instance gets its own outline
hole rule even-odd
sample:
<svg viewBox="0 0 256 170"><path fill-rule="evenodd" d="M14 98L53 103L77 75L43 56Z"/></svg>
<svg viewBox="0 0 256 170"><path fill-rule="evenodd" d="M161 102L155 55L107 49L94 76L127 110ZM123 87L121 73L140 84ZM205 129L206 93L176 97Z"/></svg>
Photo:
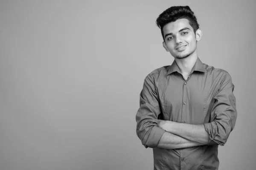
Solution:
<svg viewBox="0 0 256 170"><path fill-rule="evenodd" d="M189 57L183 59L175 58L175 62L180 68L181 74L190 74L192 68L195 65L196 60L198 59L197 53L189 55Z"/></svg>

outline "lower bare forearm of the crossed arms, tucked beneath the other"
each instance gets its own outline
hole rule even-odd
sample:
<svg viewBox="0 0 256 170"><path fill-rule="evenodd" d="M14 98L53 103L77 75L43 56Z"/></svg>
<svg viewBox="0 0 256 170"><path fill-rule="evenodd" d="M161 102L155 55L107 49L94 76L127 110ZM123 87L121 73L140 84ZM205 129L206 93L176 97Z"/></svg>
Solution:
<svg viewBox="0 0 256 170"><path fill-rule="evenodd" d="M180 149L186 147L194 147L204 145L198 142L193 142L188 139L184 139L183 137L177 136L175 134L165 132L160 138L157 147L161 147L164 149Z"/></svg>

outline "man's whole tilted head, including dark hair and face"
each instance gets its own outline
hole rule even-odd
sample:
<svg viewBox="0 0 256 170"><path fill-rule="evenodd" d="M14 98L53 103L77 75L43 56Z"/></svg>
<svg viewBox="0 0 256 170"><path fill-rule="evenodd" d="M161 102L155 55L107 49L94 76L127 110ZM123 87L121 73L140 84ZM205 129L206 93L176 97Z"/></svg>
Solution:
<svg viewBox="0 0 256 170"><path fill-rule="evenodd" d="M156 23L161 29L163 46L173 57L186 58L196 51L202 31L189 6L172 6L166 9L159 15Z"/></svg>

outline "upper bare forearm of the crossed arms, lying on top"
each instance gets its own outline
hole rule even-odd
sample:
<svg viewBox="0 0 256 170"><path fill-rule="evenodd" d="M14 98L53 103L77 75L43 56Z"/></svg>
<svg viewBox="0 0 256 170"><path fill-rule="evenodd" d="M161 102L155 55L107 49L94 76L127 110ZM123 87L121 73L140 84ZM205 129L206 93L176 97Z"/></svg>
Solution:
<svg viewBox="0 0 256 170"><path fill-rule="evenodd" d="M164 130L181 136L193 142L201 144L208 144L209 134L204 128L204 125L191 125L185 123L177 123L172 121L166 121Z"/></svg>

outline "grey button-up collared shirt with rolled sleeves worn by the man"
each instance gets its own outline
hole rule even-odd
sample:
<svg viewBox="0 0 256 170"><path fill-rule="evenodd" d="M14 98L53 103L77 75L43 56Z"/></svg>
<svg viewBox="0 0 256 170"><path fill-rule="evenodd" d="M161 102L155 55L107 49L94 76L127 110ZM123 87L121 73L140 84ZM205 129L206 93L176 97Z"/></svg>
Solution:
<svg viewBox="0 0 256 170"><path fill-rule="evenodd" d="M154 170L218 170L218 145L227 142L237 117L233 90L227 71L203 64L199 58L186 80L175 61L148 74L136 121L142 144L153 148ZM204 125L209 143L180 149L157 147L165 132L157 119Z"/></svg>

